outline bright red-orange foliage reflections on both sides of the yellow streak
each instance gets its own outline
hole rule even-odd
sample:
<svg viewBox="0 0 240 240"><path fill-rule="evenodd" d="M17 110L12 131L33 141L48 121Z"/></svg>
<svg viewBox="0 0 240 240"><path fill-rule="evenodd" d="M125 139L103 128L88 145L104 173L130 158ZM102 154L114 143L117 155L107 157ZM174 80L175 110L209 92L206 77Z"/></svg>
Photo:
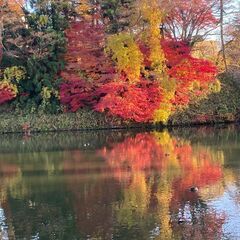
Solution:
<svg viewBox="0 0 240 240"><path fill-rule="evenodd" d="M169 146L161 145L151 134L137 134L134 138L126 138L112 148L104 148L101 155L107 159L116 175L124 171L163 170L171 164L171 158L177 159L181 168L181 177L175 179L174 189L180 195L186 195L185 190L191 186L203 187L216 183L222 176L221 166L213 162L210 153L201 150L193 153L189 144L178 143L172 139L169 143L171 152L166 152ZM196 162L197 159L197 162ZM176 193L176 194L177 194ZM180 196L175 196L176 201Z"/></svg>

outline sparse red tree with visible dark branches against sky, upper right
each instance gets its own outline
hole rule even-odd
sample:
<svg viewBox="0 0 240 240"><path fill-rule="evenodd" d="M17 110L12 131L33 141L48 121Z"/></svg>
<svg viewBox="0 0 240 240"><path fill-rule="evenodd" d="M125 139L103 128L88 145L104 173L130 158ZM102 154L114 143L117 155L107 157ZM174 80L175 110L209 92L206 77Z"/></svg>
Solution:
<svg viewBox="0 0 240 240"><path fill-rule="evenodd" d="M191 44L202 40L216 28L218 20L213 9L217 3L217 0L171 1L163 26L166 36Z"/></svg>

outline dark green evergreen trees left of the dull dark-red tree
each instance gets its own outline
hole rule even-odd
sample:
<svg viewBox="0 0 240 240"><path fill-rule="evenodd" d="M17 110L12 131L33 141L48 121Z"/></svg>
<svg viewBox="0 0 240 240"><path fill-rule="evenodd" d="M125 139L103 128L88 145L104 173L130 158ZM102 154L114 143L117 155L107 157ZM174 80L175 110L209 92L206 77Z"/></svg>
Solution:
<svg viewBox="0 0 240 240"><path fill-rule="evenodd" d="M6 67L4 79L14 79L17 85L18 95L14 102L17 108L30 112L38 108L58 112L60 104L57 89L61 79L57 75L64 67L64 30L73 9L67 1L49 3L31 0L29 4L33 11L24 9L24 24L18 26L17 30L12 25L5 26L8 34L3 42L8 52L3 64ZM18 39L21 41L18 42ZM17 47L20 44L21 49ZM15 57L12 51L16 53ZM19 63L22 67L15 67Z"/></svg>

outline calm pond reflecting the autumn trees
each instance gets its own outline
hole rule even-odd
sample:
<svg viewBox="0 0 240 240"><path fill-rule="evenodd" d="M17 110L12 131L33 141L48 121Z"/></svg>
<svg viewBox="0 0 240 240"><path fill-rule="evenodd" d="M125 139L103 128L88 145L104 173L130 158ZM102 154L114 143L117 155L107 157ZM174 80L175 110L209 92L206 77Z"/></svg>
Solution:
<svg viewBox="0 0 240 240"><path fill-rule="evenodd" d="M240 239L240 127L0 137L0 239Z"/></svg>

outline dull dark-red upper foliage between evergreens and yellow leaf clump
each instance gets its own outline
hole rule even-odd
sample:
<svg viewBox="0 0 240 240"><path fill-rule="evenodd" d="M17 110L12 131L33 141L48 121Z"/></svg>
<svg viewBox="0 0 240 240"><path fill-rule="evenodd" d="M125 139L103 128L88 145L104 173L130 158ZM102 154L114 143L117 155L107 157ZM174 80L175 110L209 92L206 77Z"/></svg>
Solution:
<svg viewBox="0 0 240 240"><path fill-rule="evenodd" d="M85 79L98 82L112 80L115 69L104 53L105 34L102 25L88 21L74 22L66 31L66 37L65 73L81 74ZM65 79L73 80L72 77Z"/></svg>

